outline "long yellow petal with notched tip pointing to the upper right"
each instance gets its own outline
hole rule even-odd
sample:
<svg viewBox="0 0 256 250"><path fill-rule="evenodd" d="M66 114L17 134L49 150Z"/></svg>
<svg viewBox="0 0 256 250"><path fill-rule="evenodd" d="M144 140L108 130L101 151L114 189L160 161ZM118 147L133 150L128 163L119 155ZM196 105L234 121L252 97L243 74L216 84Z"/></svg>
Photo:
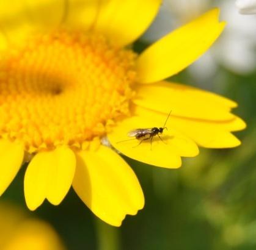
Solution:
<svg viewBox="0 0 256 250"><path fill-rule="evenodd" d="M139 82L166 79L197 60L224 29L218 16L218 9L210 10L147 48L137 61Z"/></svg>

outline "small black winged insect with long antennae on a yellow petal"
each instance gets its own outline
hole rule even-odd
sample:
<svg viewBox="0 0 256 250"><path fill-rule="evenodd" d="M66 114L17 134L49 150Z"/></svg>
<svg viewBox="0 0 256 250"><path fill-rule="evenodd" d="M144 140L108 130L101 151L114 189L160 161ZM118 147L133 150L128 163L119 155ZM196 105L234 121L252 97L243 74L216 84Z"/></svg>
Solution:
<svg viewBox="0 0 256 250"><path fill-rule="evenodd" d="M172 110L170 111L170 113L171 112L172 112ZM167 116L163 127L150 127L147 129L134 129L134 130L131 130L130 132L128 132L128 137L135 137L135 139L139 140L140 142L137 146L139 146L142 143L142 141L150 140L150 145L152 147L152 140L153 140L153 137L155 137L156 135L158 136L158 138L161 141L163 141L159 134L162 134L164 129L167 130L166 123L169 119L170 113ZM133 139L130 139L130 140L133 140ZM128 141L128 140L125 140L125 141ZM119 142L122 142L122 141L119 141ZM163 143L165 143L165 142L163 141Z"/></svg>

